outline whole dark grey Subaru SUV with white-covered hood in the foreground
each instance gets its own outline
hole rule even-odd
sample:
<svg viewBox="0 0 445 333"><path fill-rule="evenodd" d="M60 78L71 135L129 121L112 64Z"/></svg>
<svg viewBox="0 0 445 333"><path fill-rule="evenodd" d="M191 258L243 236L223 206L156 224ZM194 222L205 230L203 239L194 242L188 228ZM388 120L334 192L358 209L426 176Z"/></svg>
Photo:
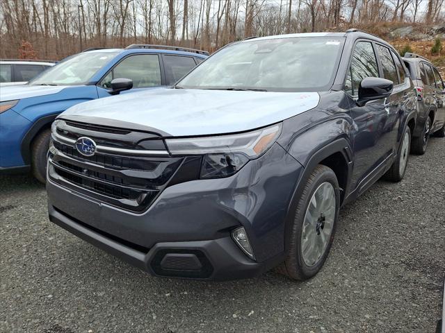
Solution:
<svg viewBox="0 0 445 333"><path fill-rule="evenodd" d="M305 280L342 205L405 175L416 95L357 30L225 46L170 88L54 121L49 219L158 276ZM364 226L366 228L366 226Z"/></svg>

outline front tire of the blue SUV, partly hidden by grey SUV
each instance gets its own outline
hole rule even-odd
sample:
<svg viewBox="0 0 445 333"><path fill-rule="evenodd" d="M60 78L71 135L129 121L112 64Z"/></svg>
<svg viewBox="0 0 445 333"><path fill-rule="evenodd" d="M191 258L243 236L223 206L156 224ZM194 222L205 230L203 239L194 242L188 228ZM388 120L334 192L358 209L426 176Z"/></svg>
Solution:
<svg viewBox="0 0 445 333"><path fill-rule="evenodd" d="M31 171L33 176L43 184L47 182L47 153L51 129L39 133L31 144Z"/></svg>

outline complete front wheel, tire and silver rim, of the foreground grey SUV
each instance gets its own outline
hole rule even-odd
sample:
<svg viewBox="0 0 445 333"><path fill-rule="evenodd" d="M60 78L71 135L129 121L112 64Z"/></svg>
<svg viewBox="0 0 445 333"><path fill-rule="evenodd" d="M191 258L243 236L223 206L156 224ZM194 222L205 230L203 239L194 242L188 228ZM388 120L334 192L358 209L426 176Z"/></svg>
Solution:
<svg viewBox="0 0 445 333"><path fill-rule="evenodd" d="M340 207L340 191L332 169L318 165L298 201L286 259L277 271L295 280L316 275L329 253Z"/></svg>

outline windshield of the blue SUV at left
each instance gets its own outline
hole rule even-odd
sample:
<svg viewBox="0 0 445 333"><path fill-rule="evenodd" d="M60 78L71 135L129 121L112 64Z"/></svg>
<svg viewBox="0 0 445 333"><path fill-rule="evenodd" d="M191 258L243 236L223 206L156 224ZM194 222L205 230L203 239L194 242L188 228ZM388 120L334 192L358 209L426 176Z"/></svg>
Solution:
<svg viewBox="0 0 445 333"><path fill-rule="evenodd" d="M59 62L32 80L30 85L84 85L118 52L86 52Z"/></svg>

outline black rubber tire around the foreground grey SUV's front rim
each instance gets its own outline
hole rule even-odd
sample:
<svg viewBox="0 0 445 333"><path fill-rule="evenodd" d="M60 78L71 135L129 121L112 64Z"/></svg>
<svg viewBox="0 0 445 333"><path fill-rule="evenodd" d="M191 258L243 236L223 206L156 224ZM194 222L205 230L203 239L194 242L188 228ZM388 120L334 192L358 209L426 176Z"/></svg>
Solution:
<svg viewBox="0 0 445 333"><path fill-rule="evenodd" d="M312 196L315 193L316 189L320 187L323 183L329 182L334 188L334 196L335 196L335 212L334 212L334 220L332 225L332 231L330 233L330 237L327 240L327 244L325 245L325 250L323 255L319 257L316 264L312 266L308 266L305 264L305 259L303 259L302 255L302 228L303 221L305 219L305 215L307 212L307 208L309 206L310 200L312 200ZM318 165L311 176L307 180L304 189L302 190L302 194L298 200L295 217L292 221L290 234L287 235L289 238L287 239L286 244L286 259L284 262L277 267L277 272L282 273L294 280L307 280L312 278L318 271L321 270L321 267L325 263L327 255L329 254L330 247L332 245L332 241L334 240L335 229L337 227L337 220L339 217L339 209L340 209L340 191L339 191L339 182L337 181L337 177L335 176L334 171L332 169L325 167L324 165Z"/></svg>

